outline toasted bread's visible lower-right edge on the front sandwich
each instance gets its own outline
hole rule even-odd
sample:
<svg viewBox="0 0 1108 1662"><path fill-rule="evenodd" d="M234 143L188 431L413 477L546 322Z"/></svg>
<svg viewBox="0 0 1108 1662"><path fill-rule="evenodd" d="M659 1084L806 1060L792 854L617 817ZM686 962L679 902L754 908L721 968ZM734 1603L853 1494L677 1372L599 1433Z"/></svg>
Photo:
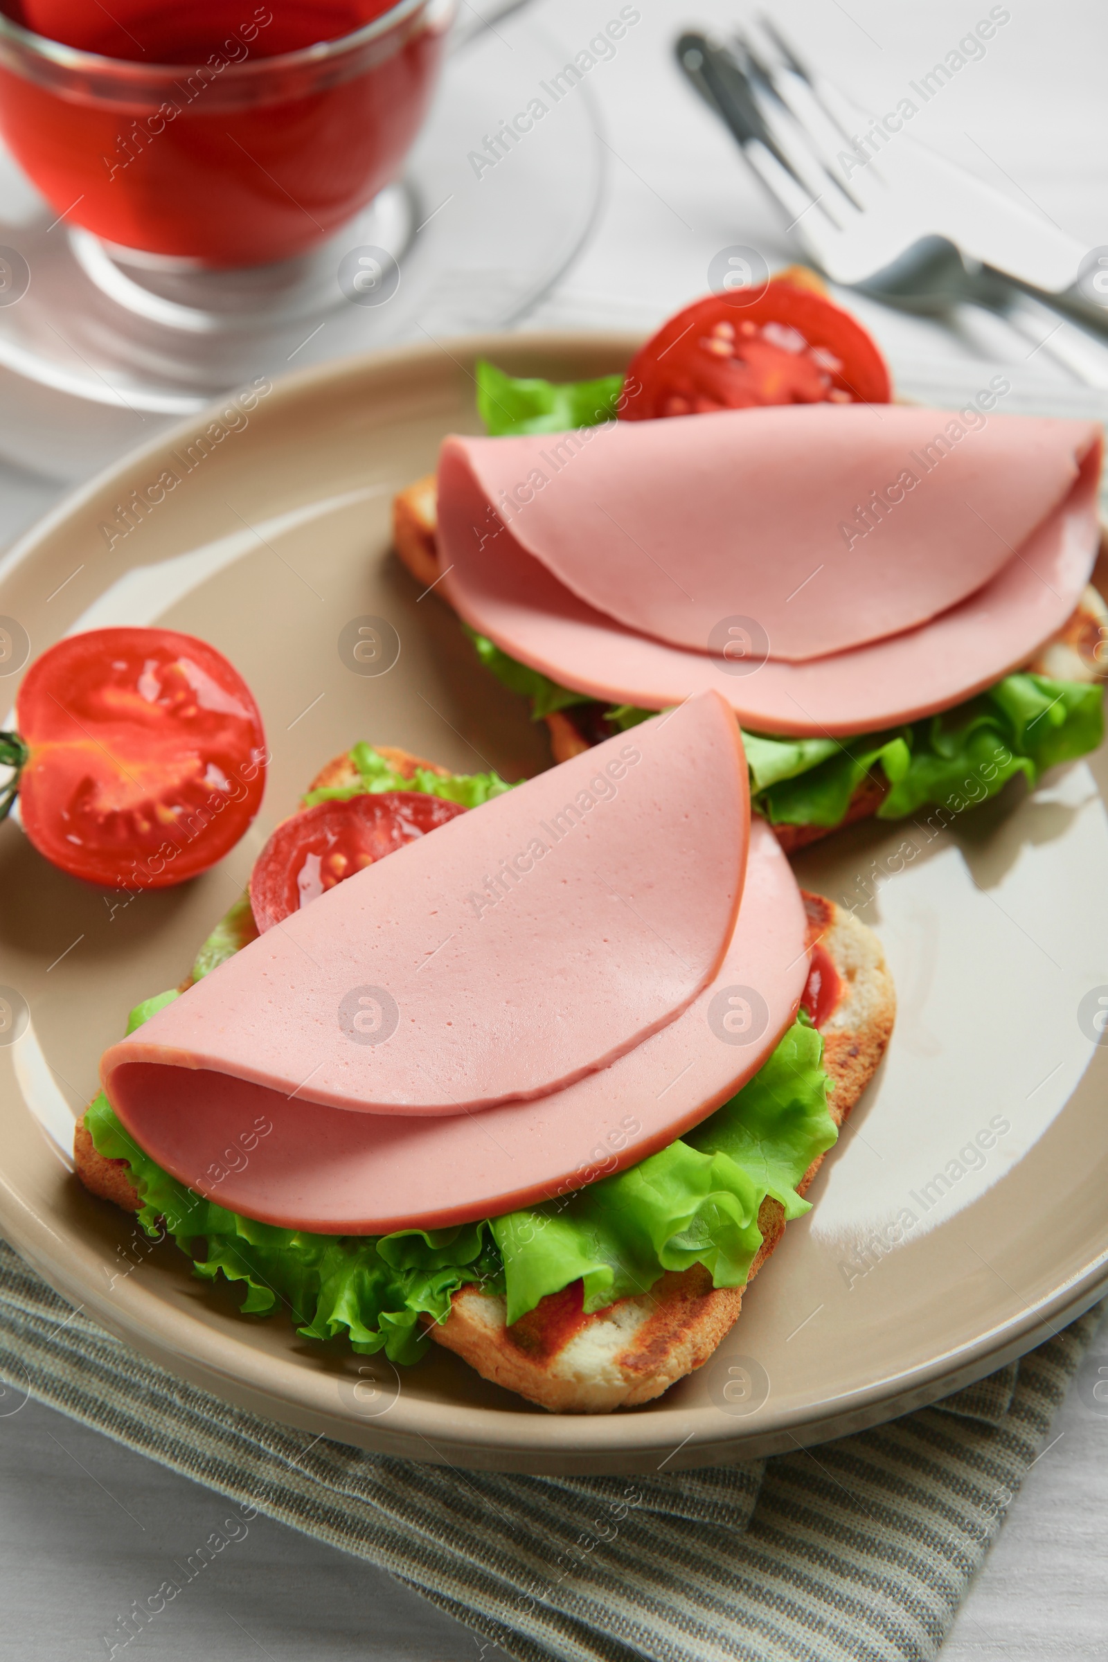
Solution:
<svg viewBox="0 0 1108 1662"><path fill-rule="evenodd" d="M872 929L819 894L806 894L807 944L822 941L842 984L842 997L822 1027L824 1067L831 1079L831 1117L842 1125L885 1054L895 1017L892 977ZM806 1193L822 1155L804 1173ZM779 1202L766 1198L757 1215L762 1245L749 1280L784 1233ZM505 1301L463 1286L435 1343L455 1351L485 1379L517 1391L552 1413L598 1414L661 1396L699 1368L733 1326L741 1286L713 1288L708 1271L668 1271L640 1298L620 1298L583 1313L581 1283L543 1298L512 1326Z"/></svg>

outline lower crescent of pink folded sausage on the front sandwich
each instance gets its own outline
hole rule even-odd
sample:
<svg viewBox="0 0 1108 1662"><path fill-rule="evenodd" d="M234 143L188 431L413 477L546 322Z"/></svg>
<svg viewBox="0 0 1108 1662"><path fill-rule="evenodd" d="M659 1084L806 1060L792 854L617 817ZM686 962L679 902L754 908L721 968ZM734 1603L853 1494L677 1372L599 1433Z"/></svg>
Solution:
<svg viewBox="0 0 1108 1662"><path fill-rule="evenodd" d="M714 981L603 1072L538 1100L429 1122L344 1114L229 1074L206 1074L196 1090L183 1069L146 1064L126 1125L183 1183L284 1228L384 1235L497 1217L633 1165L706 1119L794 1019L807 967L796 879L756 821Z"/></svg>

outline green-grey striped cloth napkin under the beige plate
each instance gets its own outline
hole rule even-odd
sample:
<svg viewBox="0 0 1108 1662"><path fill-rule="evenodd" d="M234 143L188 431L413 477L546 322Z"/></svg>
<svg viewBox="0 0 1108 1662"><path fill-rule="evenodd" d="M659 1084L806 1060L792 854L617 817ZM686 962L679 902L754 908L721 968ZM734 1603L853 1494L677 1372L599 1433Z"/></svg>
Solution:
<svg viewBox="0 0 1108 1662"><path fill-rule="evenodd" d="M650 1478L513 1478L259 1419L105 1333L0 1242L0 1408L96 1426L369 1559L525 1662L935 1657L1090 1343L1091 1310L934 1408Z"/></svg>

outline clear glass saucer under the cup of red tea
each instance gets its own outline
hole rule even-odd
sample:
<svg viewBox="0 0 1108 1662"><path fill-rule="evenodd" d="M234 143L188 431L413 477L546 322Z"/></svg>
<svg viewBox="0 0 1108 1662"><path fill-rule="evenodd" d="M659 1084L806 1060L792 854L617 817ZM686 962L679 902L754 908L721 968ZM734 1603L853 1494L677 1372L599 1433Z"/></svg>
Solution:
<svg viewBox="0 0 1108 1662"><path fill-rule="evenodd" d="M0 253L30 271L0 302L0 454L83 477L257 376L520 317L591 226L598 121L578 85L493 165L483 136L563 61L527 18L485 33L449 58L404 179L309 254L248 271L113 249L0 153Z"/></svg>

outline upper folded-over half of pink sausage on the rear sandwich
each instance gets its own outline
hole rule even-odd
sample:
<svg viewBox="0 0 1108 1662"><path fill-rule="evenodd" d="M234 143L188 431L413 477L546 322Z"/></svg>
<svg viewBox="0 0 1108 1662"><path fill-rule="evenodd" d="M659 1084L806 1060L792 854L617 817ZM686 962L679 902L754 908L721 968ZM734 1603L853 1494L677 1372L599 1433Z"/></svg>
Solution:
<svg viewBox="0 0 1108 1662"><path fill-rule="evenodd" d="M887 404L447 439L444 565L482 538L508 562L515 540L640 635L709 653L739 615L771 658L806 663L980 590L1096 447L1093 422Z"/></svg>

